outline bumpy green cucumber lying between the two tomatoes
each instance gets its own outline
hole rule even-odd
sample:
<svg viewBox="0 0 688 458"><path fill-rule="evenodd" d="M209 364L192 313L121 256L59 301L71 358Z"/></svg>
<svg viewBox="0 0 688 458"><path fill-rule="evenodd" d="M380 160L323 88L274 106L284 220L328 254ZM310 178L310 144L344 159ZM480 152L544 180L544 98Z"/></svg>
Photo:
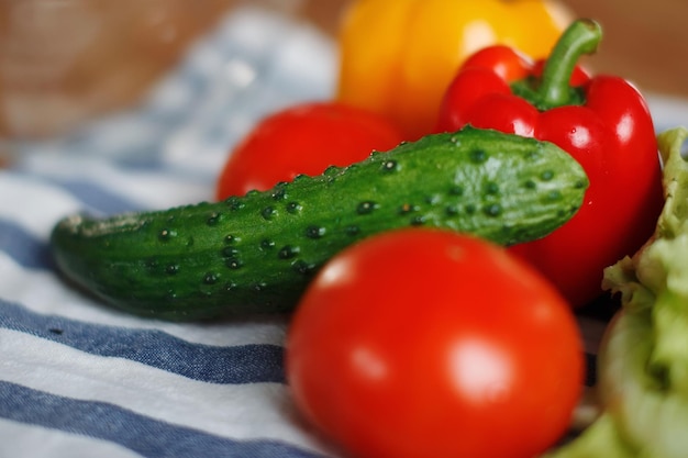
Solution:
<svg viewBox="0 0 688 458"><path fill-rule="evenodd" d="M285 313L364 237L424 226L528 242L569 220L587 187L554 144L468 126L222 202L68 216L51 244L68 279L138 315Z"/></svg>

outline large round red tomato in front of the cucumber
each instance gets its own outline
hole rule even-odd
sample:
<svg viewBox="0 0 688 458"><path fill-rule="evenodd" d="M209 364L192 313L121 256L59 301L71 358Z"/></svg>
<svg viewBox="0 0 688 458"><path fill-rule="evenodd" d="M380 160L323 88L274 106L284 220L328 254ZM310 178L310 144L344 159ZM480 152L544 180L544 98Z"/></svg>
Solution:
<svg viewBox="0 0 688 458"><path fill-rule="evenodd" d="M532 458L567 429L582 386L573 312L485 241L373 236L315 277L289 328L304 416L359 458Z"/></svg>

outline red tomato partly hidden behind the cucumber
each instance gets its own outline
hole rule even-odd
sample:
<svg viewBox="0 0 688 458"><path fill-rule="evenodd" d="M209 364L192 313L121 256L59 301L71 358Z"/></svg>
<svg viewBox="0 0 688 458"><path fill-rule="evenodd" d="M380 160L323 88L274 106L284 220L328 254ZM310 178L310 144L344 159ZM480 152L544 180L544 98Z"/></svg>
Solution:
<svg viewBox="0 0 688 458"><path fill-rule="evenodd" d="M339 102L303 103L274 113L234 148L218 181L217 198L265 191L297 175L347 166L403 139L387 119Z"/></svg>

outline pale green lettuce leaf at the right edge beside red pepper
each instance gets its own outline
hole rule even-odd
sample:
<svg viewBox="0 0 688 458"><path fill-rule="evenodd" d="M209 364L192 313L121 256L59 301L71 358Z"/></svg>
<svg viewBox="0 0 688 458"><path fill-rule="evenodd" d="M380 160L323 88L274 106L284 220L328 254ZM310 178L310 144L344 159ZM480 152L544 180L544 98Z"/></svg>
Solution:
<svg viewBox="0 0 688 458"><path fill-rule="evenodd" d="M666 202L653 237L604 271L622 309L598 355L601 415L547 458L688 456L688 130L657 139Z"/></svg>

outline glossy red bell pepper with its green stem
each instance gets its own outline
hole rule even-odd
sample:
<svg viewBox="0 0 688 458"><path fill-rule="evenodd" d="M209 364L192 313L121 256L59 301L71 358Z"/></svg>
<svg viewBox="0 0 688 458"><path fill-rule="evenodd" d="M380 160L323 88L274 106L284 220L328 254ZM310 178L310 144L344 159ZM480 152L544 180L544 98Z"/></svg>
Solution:
<svg viewBox="0 0 688 458"><path fill-rule="evenodd" d="M661 161L641 93L618 76L591 77L578 66L596 52L601 27L579 20L546 62L507 46L469 57L452 81L440 131L465 124L550 141L590 179L584 206L551 235L510 249L537 267L572 305L601 294L603 268L635 253L662 210Z"/></svg>

